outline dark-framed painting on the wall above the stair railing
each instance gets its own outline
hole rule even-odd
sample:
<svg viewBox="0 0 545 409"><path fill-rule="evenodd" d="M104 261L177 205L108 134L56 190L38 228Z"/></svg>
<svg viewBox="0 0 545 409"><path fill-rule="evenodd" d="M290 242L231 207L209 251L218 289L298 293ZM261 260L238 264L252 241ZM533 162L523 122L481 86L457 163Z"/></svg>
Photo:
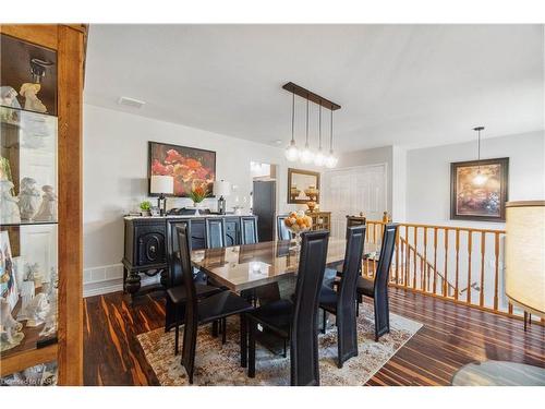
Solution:
<svg viewBox="0 0 545 409"><path fill-rule="evenodd" d="M505 221L509 158L450 164L450 218Z"/></svg>

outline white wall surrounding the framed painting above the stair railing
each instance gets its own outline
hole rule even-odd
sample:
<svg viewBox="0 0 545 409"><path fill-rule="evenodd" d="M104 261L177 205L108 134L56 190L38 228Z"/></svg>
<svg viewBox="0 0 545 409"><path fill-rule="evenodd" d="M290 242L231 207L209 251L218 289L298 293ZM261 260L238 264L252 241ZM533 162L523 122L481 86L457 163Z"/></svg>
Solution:
<svg viewBox="0 0 545 409"><path fill-rule="evenodd" d="M509 201L545 197L545 132L485 139L482 158L509 157ZM450 220L450 163L476 159L476 142L409 151L407 220L502 229L504 224Z"/></svg>

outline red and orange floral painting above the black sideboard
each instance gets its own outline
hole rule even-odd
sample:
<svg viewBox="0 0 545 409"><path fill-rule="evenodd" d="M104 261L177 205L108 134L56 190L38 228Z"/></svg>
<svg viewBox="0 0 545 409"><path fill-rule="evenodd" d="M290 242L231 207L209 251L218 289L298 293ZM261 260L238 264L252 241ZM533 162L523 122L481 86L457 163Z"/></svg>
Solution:
<svg viewBox="0 0 545 409"><path fill-rule="evenodd" d="M201 187L213 195L216 180L216 153L189 146L148 143L148 179L153 175L174 178L174 196L189 197L192 189ZM156 196L157 194L152 194Z"/></svg>

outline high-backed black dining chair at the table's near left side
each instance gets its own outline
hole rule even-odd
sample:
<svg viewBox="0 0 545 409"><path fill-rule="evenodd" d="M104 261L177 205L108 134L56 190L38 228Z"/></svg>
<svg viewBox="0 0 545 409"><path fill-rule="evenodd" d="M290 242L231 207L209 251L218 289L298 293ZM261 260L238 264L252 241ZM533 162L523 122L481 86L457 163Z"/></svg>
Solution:
<svg viewBox="0 0 545 409"><path fill-rule="evenodd" d="M182 225L177 227L178 242L180 245L180 260L182 263L183 284L186 288L185 320L183 327L182 365L187 372L190 384L193 384L193 372L195 369L195 350L197 342L197 330L199 325L222 321L231 315L240 315L241 336L241 365L247 363L247 338L245 314L253 310L243 298L231 291L221 291L214 296L199 299L197 297L193 272L191 268L191 253L189 245L187 227ZM225 328L223 328L225 330ZM175 332L178 340L178 327ZM175 349L178 351L178 341Z"/></svg>

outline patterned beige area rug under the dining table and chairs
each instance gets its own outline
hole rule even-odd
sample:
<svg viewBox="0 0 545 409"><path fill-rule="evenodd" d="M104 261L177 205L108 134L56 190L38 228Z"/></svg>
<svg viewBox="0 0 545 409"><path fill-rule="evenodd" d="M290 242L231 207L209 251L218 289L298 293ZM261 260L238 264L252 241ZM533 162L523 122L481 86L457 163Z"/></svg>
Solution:
<svg viewBox="0 0 545 409"><path fill-rule="evenodd" d="M331 315L330 315L331 316ZM332 316L331 316L332 317ZM337 368L337 329L330 327L320 334L319 376L322 385L364 385L388 360L422 327L421 323L390 314L390 334L374 340L373 308L360 305L358 317L359 356ZM180 328L180 352L183 328ZM274 354L256 346L256 376L246 376L246 369L240 366L239 317L228 321L227 342L210 335L210 326L202 326L197 336L194 385L289 385L290 358ZM162 328L137 336L147 361L164 386L189 385L181 356L174 357L174 332Z"/></svg>

